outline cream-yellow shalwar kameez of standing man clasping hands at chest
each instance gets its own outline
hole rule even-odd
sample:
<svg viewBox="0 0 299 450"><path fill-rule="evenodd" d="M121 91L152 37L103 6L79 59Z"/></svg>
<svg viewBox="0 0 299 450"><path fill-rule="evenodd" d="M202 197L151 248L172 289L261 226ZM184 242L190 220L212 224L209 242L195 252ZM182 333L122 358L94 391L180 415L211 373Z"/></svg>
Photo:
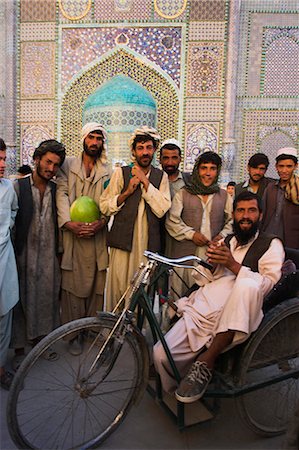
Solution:
<svg viewBox="0 0 299 450"><path fill-rule="evenodd" d="M147 174L149 177L150 172ZM122 169L117 167L113 173L108 187L100 198L100 210L105 215L116 214L124 205L117 206L117 198L124 186ZM110 263L107 280L106 310L111 311L127 288L140 263L145 262L143 256L148 246L148 225L145 204L147 203L157 217L163 217L170 208L169 183L166 173L160 183L159 189L151 183L146 191L141 185L141 199L138 205L137 217L134 225L131 252L110 248Z"/></svg>

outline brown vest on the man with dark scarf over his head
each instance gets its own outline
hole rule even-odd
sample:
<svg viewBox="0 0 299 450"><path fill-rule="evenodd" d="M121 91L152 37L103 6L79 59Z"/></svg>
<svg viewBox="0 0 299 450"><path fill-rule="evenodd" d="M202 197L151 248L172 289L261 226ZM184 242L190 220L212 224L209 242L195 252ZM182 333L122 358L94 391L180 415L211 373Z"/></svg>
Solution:
<svg viewBox="0 0 299 450"><path fill-rule="evenodd" d="M186 189L183 190L183 211L182 220L186 225L192 227L195 231L200 231L202 222L202 204L197 195L190 194ZM224 227L225 215L224 208L227 199L227 192L220 189L214 195L212 200L212 208L210 213L211 236L214 238ZM172 246L172 256L180 258L182 256L194 255L196 252L196 244L188 239L177 241L174 239Z"/></svg>

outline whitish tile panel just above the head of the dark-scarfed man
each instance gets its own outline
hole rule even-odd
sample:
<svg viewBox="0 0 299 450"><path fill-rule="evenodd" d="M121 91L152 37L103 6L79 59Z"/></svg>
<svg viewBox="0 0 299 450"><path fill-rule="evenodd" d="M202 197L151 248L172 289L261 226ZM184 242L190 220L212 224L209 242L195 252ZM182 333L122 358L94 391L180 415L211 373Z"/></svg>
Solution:
<svg viewBox="0 0 299 450"><path fill-rule="evenodd" d="M186 123L184 170L191 172L198 155L218 151L218 123Z"/></svg>

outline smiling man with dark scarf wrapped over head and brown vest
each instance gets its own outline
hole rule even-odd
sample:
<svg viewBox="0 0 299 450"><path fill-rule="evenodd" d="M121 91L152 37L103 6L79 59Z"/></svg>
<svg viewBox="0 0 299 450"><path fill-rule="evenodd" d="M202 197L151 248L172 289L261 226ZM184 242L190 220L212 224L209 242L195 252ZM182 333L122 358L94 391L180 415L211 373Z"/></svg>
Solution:
<svg viewBox="0 0 299 450"><path fill-rule="evenodd" d="M207 246L232 232L232 198L218 185L221 158L204 152L197 160L190 182L177 192L167 214L166 229L175 239L173 258L196 255L205 259ZM193 279L188 269L176 269L173 289L181 297ZM184 284L186 283L186 284Z"/></svg>

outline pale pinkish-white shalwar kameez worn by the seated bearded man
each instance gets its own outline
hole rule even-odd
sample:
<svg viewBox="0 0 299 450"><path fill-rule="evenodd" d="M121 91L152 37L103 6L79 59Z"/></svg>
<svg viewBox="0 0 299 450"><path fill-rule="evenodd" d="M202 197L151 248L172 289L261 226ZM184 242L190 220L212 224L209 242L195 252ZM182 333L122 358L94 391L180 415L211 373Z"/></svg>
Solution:
<svg viewBox="0 0 299 450"><path fill-rule="evenodd" d="M243 261L254 240L237 247L236 238L232 238L231 252L237 262ZM177 302L182 317L165 336L182 377L201 349L211 345L216 334L235 331L232 346L246 340L258 328L263 318L263 298L280 279L283 260L283 245L280 240L273 239L259 259L259 272L245 266L237 276L220 265L213 274L201 269L210 281L194 273L196 282L202 287ZM172 392L176 381L160 341L154 347L154 362L163 389Z"/></svg>

